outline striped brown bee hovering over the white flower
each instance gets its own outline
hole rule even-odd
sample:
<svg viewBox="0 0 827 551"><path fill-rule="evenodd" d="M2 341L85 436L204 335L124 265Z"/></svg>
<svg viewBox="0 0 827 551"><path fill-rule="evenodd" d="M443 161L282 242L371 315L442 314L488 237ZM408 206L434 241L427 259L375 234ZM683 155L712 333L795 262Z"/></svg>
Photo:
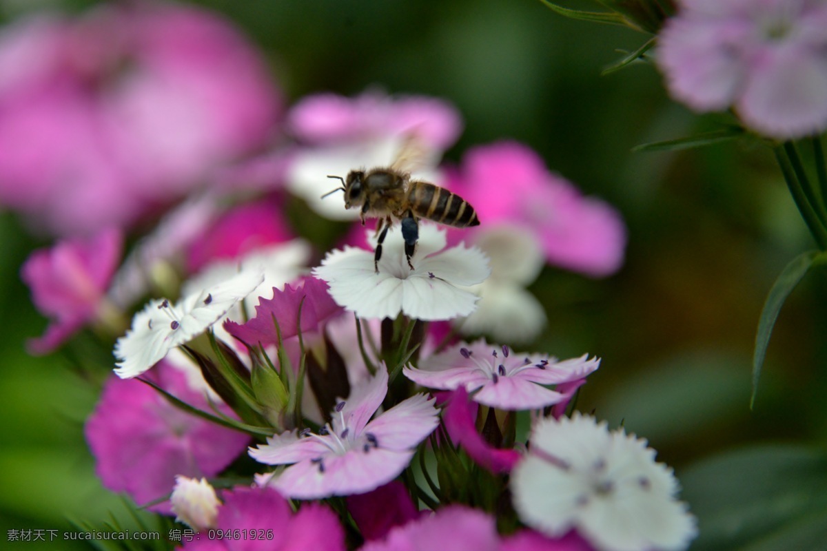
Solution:
<svg viewBox="0 0 827 551"><path fill-rule="evenodd" d="M351 170L346 178L327 176L338 179L342 187L325 193L322 198L342 191L345 193L345 208L361 209L359 217L362 226L366 218L379 218L376 226L379 238L373 261L375 273L379 273L382 244L394 221L398 220L402 228L405 259L411 269L414 269L411 257L419 239L420 218L457 228L480 224L474 207L456 193L433 183L411 179L410 172L421 162L423 150L415 140L409 139L389 167Z"/></svg>

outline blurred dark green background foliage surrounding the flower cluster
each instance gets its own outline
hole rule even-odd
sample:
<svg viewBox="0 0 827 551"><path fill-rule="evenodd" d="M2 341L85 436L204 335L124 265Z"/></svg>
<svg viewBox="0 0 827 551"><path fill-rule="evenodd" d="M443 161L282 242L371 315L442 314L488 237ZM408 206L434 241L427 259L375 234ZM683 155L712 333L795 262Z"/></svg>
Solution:
<svg viewBox="0 0 827 551"><path fill-rule="evenodd" d="M93 3L0 0L0 9L7 22ZM716 507L725 510L727 499L758 500L762 483L782 473L797 473L782 478L789 486L781 487L800 483L806 491L791 499L807 511L817 505L808 501L816 488L827 496L824 455L814 451L827 440L823 273L810 273L786 302L749 410L762 303L786 263L813 244L767 148L739 141L631 152L719 122L672 102L651 64L600 75L622 56L618 50L634 50L647 36L567 20L536 0L191 3L234 21L269 60L291 103L308 93L351 95L370 87L443 97L466 124L448 162L474 145L518 140L549 169L621 211L629 245L619 273L591 280L545 268L533 285L549 318L534 348L603 358L577 407L645 436L674 466L700 517L693 549L743 544L727 539L743 519L721 525ZM18 270L45 243L9 213L0 215L0 241L0 528L73 530L73 521L102 525L109 515L135 526L122 500L93 476L82 423L94 388L65 356L32 358L23 348L45 320ZM741 455L721 456L730 452ZM781 509L790 515L796 507ZM749 517L763 519L757 533L782 523L780 516L767 520L769 514ZM815 537L823 534L811 528ZM753 545L748 549L782 549L770 539Z"/></svg>

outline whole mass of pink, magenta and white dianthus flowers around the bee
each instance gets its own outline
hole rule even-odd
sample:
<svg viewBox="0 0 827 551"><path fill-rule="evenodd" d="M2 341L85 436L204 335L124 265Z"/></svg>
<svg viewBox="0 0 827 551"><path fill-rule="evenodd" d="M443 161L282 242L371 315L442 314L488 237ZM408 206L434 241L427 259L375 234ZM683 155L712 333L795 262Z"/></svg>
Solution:
<svg viewBox="0 0 827 551"><path fill-rule="evenodd" d="M647 442L572 411L600 360L518 351L546 321L528 290L544 265L602 277L625 245L614 209L527 146L440 164L461 119L429 97L283 109L255 51L191 7L18 22L0 35L0 75L14 115L0 143L32 136L41 159L0 147L0 198L58 236L22 268L51 318L31 351L112 344L85 425L103 485L189 530L246 534L170 546L643 551L694 538ZM377 271L374 232L319 197L327 175L389 164L411 135L433 160L417 177L482 224L423 223L411 265L391 230Z"/></svg>

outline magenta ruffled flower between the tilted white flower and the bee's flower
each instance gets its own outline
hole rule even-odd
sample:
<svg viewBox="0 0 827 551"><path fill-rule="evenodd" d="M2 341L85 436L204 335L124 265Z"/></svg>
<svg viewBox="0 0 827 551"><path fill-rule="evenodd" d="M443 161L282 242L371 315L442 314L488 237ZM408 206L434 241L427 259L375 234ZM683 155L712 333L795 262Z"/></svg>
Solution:
<svg viewBox="0 0 827 551"><path fill-rule="evenodd" d="M301 306L301 320L299 320ZM327 293L327 283L321 279L304 278L295 287L284 286L284 291L273 287L273 298L259 298L256 317L239 324L224 322L227 332L250 346L278 344L273 319L279 322L282 340L302 332L318 331L321 324L342 312L342 307Z"/></svg>

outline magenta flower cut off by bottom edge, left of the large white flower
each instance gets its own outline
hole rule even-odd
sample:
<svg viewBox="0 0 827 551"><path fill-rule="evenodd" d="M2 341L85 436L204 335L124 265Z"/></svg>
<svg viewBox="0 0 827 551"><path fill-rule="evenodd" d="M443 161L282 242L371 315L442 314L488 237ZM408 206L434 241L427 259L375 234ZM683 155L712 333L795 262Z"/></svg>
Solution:
<svg viewBox="0 0 827 551"><path fill-rule="evenodd" d="M498 551L500 536L494 517L465 506L449 506L390 531L384 541L372 541L361 551Z"/></svg>

